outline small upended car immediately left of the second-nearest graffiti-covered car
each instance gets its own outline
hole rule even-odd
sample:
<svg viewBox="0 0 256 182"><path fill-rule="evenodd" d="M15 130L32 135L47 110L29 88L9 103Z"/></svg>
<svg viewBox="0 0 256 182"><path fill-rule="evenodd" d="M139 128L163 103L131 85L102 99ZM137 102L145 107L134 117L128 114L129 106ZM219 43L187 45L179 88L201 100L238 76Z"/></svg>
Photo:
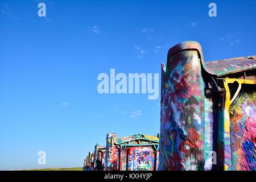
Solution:
<svg viewBox="0 0 256 182"><path fill-rule="evenodd" d="M96 144L94 150L93 168L95 171L103 171L105 167L106 146Z"/></svg>

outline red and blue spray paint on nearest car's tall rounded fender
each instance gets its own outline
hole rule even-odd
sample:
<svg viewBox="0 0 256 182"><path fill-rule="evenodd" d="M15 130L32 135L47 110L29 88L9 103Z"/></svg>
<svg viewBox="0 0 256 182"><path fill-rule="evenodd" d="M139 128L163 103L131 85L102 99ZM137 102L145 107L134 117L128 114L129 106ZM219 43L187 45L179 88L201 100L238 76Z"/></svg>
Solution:
<svg viewBox="0 0 256 182"><path fill-rule="evenodd" d="M160 170L198 170L203 163L203 79L196 51L183 51L162 68Z"/></svg>

